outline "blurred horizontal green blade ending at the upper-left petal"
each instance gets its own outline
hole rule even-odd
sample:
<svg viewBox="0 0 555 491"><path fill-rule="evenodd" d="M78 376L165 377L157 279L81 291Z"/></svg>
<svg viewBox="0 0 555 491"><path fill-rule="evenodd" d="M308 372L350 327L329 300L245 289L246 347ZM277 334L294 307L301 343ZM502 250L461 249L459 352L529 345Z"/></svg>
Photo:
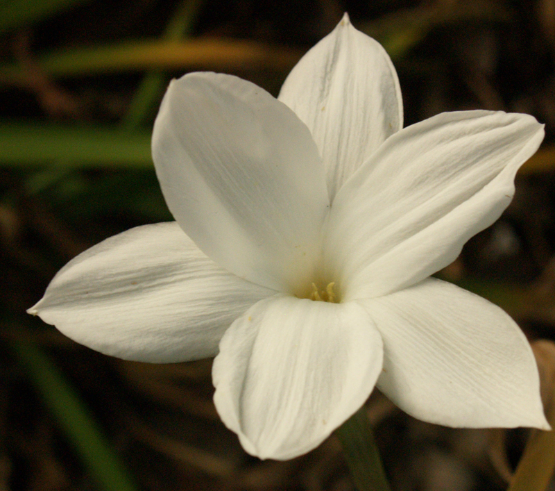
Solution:
<svg viewBox="0 0 555 491"><path fill-rule="evenodd" d="M152 167L151 134L119 128L0 122L0 165Z"/></svg>

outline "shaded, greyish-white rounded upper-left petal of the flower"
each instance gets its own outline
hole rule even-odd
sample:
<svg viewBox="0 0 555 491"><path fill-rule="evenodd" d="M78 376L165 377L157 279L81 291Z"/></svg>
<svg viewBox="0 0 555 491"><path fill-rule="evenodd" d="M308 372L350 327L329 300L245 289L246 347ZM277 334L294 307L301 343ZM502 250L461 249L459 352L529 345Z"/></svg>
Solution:
<svg viewBox="0 0 555 491"><path fill-rule="evenodd" d="M216 263L282 291L314 276L325 176L284 103L234 76L188 74L164 96L153 158L171 213Z"/></svg>

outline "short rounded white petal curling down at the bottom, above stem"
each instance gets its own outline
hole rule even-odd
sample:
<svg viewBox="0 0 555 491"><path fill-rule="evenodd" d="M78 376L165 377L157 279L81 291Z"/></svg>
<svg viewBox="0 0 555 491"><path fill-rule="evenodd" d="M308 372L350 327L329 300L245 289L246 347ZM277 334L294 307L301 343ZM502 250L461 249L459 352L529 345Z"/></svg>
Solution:
<svg viewBox="0 0 555 491"><path fill-rule="evenodd" d="M382 369L382 340L357 303L278 296L226 331L214 402L244 449L286 460L314 449L355 413Z"/></svg>

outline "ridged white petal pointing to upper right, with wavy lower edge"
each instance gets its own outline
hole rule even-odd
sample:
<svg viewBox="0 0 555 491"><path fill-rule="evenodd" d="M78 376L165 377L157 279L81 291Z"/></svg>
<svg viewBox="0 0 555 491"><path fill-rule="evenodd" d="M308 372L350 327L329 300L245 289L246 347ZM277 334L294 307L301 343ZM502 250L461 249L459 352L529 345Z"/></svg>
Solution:
<svg viewBox="0 0 555 491"><path fill-rule="evenodd" d="M327 261L343 299L400 290L450 264L510 203L542 139L533 117L488 111L443 113L391 136L332 206Z"/></svg>

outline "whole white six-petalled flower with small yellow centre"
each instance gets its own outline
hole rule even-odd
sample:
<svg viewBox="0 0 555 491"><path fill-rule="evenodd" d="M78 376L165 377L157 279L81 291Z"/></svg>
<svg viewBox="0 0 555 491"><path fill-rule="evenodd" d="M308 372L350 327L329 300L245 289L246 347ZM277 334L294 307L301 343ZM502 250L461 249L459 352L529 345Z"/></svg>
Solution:
<svg viewBox="0 0 555 491"><path fill-rule="evenodd" d="M216 356L219 415L260 458L314 449L375 385L428 422L549 428L515 322L429 278L542 140L533 117L482 110L402 129L391 60L345 15L277 100L173 81L153 158L177 223L85 251L29 312L120 358Z"/></svg>

